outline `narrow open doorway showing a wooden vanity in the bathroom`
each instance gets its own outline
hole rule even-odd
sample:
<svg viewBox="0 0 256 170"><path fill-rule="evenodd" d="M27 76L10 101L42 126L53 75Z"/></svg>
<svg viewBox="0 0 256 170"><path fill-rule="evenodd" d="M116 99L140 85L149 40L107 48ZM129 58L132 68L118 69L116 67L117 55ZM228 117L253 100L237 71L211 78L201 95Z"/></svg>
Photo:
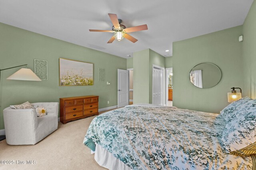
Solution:
<svg viewBox="0 0 256 170"><path fill-rule="evenodd" d="M172 68L166 68L166 106L172 106Z"/></svg>

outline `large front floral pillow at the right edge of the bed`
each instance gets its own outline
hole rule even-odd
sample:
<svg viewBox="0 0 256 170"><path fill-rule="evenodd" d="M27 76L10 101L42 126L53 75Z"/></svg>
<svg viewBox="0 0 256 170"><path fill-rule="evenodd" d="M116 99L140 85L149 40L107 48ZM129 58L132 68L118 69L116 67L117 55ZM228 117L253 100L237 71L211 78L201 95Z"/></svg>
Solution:
<svg viewBox="0 0 256 170"><path fill-rule="evenodd" d="M256 99L235 111L236 119L227 122L222 145L229 154L250 156L256 154Z"/></svg>

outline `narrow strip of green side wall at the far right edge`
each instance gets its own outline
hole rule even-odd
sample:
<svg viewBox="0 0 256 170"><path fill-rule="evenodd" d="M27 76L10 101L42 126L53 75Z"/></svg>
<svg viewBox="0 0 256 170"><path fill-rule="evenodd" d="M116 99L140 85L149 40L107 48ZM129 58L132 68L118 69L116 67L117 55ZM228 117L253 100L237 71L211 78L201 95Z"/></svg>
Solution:
<svg viewBox="0 0 256 170"><path fill-rule="evenodd" d="M256 98L256 1L244 21L243 35L243 96Z"/></svg>

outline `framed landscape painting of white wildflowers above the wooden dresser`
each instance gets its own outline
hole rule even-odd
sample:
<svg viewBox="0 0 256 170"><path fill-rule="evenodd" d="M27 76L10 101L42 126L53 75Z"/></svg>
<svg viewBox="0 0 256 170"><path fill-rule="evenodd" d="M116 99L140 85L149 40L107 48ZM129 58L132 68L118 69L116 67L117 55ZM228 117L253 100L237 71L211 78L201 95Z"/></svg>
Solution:
<svg viewBox="0 0 256 170"><path fill-rule="evenodd" d="M93 85L93 64L60 58L60 86Z"/></svg>

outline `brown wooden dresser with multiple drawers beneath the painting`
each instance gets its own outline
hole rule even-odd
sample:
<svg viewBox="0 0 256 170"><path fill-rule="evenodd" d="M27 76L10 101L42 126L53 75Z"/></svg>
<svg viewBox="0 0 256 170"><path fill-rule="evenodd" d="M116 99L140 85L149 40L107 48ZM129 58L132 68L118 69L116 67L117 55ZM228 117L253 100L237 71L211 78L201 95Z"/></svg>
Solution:
<svg viewBox="0 0 256 170"><path fill-rule="evenodd" d="M60 122L82 119L92 115L98 115L99 96L78 96L60 98Z"/></svg>

